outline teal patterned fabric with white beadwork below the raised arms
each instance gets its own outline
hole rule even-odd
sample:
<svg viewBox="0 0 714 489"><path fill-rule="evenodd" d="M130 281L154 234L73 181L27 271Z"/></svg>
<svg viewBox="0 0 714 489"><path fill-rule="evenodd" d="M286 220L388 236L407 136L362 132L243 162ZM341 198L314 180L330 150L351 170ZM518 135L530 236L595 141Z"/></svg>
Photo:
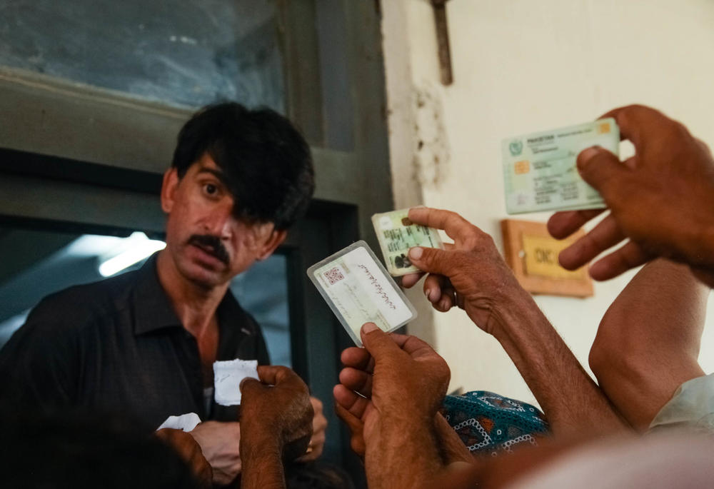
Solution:
<svg viewBox="0 0 714 489"><path fill-rule="evenodd" d="M538 408L486 390L447 395L441 413L471 453L511 452L549 433Z"/></svg>

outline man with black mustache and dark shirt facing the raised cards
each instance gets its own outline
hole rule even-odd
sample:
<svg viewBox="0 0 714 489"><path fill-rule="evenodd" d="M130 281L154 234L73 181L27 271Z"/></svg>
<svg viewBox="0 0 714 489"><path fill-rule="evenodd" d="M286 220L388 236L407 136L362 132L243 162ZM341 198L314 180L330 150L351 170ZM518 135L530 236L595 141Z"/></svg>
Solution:
<svg viewBox="0 0 714 489"><path fill-rule="evenodd" d="M169 415L197 413L204 422L191 435L211 463L213 482L231 483L241 470L239 410L213 399L213 362L265 365L268 352L228 286L278 248L313 190L308 145L283 116L235 103L198 111L181 129L164 174L166 248L139 271L44 298L0 354L4 397L45 410L119 411L152 429ZM292 375L271 370L267 377L284 380L271 391L271 403L282 399L278 408L252 395L240 416L274 413L266 422L277 423L314 410L310 460L321 453L326 420L316 399L284 402L281 393L289 398L300 390ZM289 388L281 390L283 384ZM303 428L281 440L304 438Z"/></svg>

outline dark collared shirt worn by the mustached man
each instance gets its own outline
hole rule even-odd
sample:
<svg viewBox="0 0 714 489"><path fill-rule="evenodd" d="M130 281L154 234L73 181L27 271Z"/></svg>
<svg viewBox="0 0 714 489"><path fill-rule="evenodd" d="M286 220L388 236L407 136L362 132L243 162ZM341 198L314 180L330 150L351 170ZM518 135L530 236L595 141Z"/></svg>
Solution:
<svg viewBox="0 0 714 489"><path fill-rule="evenodd" d="M218 306L218 360L268 352L258 324L230 291ZM236 406L203 402L196 339L178 320L156 275L139 270L44 298L0 351L0 395L22 408L79 406L158 427L169 415L238 420Z"/></svg>

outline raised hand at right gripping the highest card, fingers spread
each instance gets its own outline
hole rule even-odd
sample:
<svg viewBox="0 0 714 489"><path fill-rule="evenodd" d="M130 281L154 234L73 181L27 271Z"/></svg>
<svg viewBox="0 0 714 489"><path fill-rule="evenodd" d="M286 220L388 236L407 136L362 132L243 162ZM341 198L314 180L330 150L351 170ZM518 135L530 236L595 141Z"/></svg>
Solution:
<svg viewBox="0 0 714 489"><path fill-rule="evenodd" d="M688 263L714 285L714 161L687 128L644 106L608 112L632 141L635 156L621 162L603 148L578 156L578 171L596 188L610 214L560 253L560 264L579 268L603 251L624 246L590 267L596 280L620 275L663 256ZM601 211L555 213L548 229L565 238Z"/></svg>

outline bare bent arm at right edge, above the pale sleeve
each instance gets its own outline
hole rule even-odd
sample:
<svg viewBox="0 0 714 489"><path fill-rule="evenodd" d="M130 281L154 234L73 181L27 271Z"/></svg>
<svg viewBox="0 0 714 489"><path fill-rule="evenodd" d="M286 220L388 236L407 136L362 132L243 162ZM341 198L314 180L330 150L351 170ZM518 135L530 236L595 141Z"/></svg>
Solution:
<svg viewBox="0 0 714 489"><path fill-rule="evenodd" d="M600 322L590 368L637 430L646 430L685 381L704 375L697 358L709 290L688 266L642 268Z"/></svg>

